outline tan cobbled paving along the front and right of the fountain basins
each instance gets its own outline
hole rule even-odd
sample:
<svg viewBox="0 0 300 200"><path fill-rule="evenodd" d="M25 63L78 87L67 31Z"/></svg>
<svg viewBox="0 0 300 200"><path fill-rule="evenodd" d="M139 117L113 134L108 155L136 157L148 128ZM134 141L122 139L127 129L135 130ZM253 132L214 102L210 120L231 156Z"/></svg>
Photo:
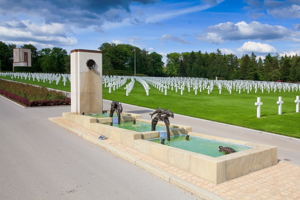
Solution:
<svg viewBox="0 0 300 200"><path fill-rule="evenodd" d="M56 119L95 138L100 136L61 117ZM214 184L121 143L110 139L103 142L225 199L300 199L300 166L295 164L280 161L275 166Z"/></svg>

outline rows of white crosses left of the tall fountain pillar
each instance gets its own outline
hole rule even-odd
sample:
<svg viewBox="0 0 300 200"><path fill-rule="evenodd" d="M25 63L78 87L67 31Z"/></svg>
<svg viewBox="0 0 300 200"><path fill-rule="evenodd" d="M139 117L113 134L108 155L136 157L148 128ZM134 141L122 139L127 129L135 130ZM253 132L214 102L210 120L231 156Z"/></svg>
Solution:
<svg viewBox="0 0 300 200"><path fill-rule="evenodd" d="M24 73L24 72L0 72L0 76L2 77L6 77L6 76L10 76L11 79L13 78L21 78L21 79L27 79L30 81L31 78L33 81L35 81L35 79L38 80L38 82L40 82L40 80L43 80L43 82L48 81L49 80L49 84L51 84L51 82L56 82L56 85L58 85L61 77L62 77L62 81L64 82L64 86L66 85L67 79L69 81L71 81L71 75L70 74L60 74L60 73Z"/></svg>

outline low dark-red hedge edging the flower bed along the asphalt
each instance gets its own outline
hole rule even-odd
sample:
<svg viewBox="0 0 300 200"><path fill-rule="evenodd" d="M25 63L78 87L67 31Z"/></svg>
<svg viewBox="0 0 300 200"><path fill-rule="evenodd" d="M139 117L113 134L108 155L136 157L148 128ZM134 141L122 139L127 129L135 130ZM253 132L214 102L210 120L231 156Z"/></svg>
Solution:
<svg viewBox="0 0 300 200"><path fill-rule="evenodd" d="M39 101L29 101L24 97L20 97L16 94L8 92L6 90L0 89L0 94L9 97L17 102L20 102L26 106L57 106L57 105L71 105L71 99L67 97L65 100L39 100Z"/></svg>

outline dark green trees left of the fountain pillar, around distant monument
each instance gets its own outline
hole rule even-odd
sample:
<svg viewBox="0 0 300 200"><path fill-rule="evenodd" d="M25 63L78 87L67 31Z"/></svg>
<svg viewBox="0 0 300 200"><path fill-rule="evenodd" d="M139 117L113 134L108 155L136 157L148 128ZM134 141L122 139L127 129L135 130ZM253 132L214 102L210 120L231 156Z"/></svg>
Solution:
<svg viewBox="0 0 300 200"><path fill-rule="evenodd" d="M6 45L0 41L0 70L13 70L13 49L16 44ZM60 47L38 49L32 44L24 44L21 48L31 50L31 64L36 72L70 72L70 55Z"/></svg>

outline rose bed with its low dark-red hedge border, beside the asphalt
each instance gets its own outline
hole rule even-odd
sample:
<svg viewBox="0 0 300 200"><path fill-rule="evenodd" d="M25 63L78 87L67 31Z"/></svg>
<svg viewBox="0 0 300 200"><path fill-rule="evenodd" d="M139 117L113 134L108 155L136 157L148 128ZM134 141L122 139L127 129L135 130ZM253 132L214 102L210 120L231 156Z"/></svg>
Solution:
<svg viewBox="0 0 300 200"><path fill-rule="evenodd" d="M0 80L0 94L30 107L71 104L67 93L5 80Z"/></svg>

